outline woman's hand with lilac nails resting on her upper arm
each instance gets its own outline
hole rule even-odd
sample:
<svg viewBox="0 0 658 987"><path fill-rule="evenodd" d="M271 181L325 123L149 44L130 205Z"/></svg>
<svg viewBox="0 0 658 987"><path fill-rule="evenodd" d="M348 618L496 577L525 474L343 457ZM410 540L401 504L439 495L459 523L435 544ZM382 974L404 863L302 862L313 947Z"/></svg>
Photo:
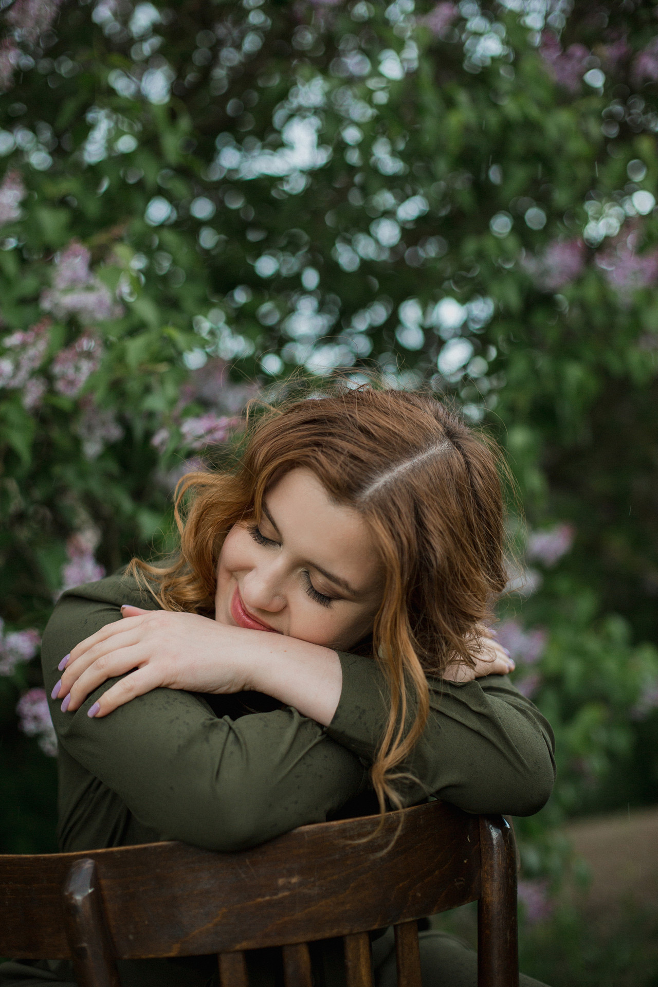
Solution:
<svg viewBox="0 0 658 987"><path fill-rule="evenodd" d="M131 606L122 607L121 616L123 620L108 624L62 660L64 674L52 695L63 700L64 712L75 712L90 693L118 675L125 678L111 686L89 716L105 717L135 696L161 687L206 693L254 688L244 650L248 640L263 644L256 637L269 638L265 632L225 627L197 614Z"/></svg>

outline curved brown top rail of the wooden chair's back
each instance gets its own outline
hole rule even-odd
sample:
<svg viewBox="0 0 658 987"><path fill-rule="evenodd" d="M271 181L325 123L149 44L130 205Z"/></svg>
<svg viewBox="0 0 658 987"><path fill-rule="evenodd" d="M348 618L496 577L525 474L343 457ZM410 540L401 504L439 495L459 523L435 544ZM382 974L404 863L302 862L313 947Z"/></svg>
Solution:
<svg viewBox="0 0 658 987"><path fill-rule="evenodd" d="M0 857L0 955L69 956L61 888L82 858L96 863L124 959L311 942L478 898L478 817L438 801L402 816L392 849L399 812L303 826L232 854L168 842Z"/></svg>

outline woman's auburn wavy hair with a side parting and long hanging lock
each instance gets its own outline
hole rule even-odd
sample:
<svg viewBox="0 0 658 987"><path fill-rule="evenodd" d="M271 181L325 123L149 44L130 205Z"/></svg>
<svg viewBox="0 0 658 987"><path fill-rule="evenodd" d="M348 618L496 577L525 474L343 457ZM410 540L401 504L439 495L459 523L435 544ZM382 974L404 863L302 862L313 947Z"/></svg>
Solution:
<svg viewBox="0 0 658 987"><path fill-rule="evenodd" d="M233 469L183 477L174 561L133 560L131 569L155 584L166 610L214 616L224 539L233 525L259 521L263 496L284 474L311 470L332 499L358 510L385 573L372 637L360 643L390 695L371 778L382 811L387 798L399 806L394 783L429 711L426 675L473 665L478 625L505 585L501 457L435 398L371 386L267 408L248 418L243 443Z"/></svg>

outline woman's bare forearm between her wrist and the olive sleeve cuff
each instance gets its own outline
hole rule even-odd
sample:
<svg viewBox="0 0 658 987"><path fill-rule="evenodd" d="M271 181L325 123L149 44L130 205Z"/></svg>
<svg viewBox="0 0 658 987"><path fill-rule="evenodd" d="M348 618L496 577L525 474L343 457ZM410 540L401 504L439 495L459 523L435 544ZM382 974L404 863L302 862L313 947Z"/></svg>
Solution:
<svg viewBox="0 0 658 987"><path fill-rule="evenodd" d="M329 726L342 689L342 667L337 653L296 638L258 631L247 635L257 635L260 639L252 647L246 638L245 658L250 665L251 688Z"/></svg>

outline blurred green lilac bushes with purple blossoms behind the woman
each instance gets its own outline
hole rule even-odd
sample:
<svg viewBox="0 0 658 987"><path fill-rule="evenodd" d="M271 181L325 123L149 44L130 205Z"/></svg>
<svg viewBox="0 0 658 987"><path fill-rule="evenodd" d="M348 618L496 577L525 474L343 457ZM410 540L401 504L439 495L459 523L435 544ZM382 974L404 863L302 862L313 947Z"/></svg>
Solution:
<svg viewBox="0 0 658 987"><path fill-rule="evenodd" d="M658 794L655 7L3 10L2 849L53 846L56 594L162 548L251 394L374 365L509 454L501 633L559 763L523 859L557 879L565 814Z"/></svg>

